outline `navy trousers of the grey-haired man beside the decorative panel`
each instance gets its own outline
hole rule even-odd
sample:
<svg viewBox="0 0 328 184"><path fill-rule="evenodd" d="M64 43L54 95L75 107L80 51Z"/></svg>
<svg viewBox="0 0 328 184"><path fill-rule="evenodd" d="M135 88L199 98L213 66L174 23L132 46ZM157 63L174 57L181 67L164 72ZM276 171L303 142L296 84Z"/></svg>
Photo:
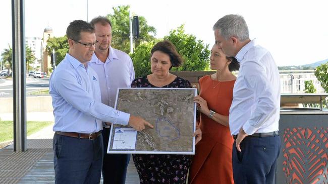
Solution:
<svg viewBox="0 0 328 184"><path fill-rule="evenodd" d="M276 165L281 149L280 137L245 137L241 152L233 145L233 174L235 184L276 183Z"/></svg>

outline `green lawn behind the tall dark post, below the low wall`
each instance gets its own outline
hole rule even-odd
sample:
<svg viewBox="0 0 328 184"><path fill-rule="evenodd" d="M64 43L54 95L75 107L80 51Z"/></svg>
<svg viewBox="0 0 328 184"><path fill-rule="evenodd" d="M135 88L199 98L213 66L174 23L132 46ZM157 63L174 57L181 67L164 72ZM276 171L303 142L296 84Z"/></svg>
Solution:
<svg viewBox="0 0 328 184"><path fill-rule="evenodd" d="M27 121L27 136L53 124L49 121ZM13 121L0 121L0 143L13 140Z"/></svg>

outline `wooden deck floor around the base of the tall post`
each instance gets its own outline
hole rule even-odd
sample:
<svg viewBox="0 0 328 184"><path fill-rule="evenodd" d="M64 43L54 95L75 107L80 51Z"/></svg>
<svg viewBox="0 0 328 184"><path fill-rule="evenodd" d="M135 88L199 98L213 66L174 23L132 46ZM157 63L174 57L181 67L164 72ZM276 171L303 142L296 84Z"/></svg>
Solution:
<svg viewBox="0 0 328 184"><path fill-rule="evenodd" d="M12 146L0 150L0 183L54 183L52 139L27 141L25 152L14 152ZM132 159L126 183L139 183Z"/></svg>

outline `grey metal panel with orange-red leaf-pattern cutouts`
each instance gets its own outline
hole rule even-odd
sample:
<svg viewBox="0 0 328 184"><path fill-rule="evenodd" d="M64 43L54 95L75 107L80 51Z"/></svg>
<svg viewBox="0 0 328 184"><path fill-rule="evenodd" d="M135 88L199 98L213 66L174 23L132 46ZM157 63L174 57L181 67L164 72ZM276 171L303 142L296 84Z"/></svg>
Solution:
<svg viewBox="0 0 328 184"><path fill-rule="evenodd" d="M281 115L277 183L328 183L328 115Z"/></svg>

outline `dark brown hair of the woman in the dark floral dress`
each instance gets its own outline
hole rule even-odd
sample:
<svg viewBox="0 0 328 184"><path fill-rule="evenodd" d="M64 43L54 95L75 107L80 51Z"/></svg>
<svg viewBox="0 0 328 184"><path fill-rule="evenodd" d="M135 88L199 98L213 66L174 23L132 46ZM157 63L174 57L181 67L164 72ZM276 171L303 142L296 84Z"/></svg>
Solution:
<svg viewBox="0 0 328 184"><path fill-rule="evenodd" d="M166 53L170 56L170 61L172 64L171 68L179 67L183 63L183 59L182 59L181 55L178 53L178 51L177 51L176 47L173 45L173 43L171 43L169 40L164 40L164 41L156 43L150 51L151 56L155 51L160 51L160 52Z"/></svg>

